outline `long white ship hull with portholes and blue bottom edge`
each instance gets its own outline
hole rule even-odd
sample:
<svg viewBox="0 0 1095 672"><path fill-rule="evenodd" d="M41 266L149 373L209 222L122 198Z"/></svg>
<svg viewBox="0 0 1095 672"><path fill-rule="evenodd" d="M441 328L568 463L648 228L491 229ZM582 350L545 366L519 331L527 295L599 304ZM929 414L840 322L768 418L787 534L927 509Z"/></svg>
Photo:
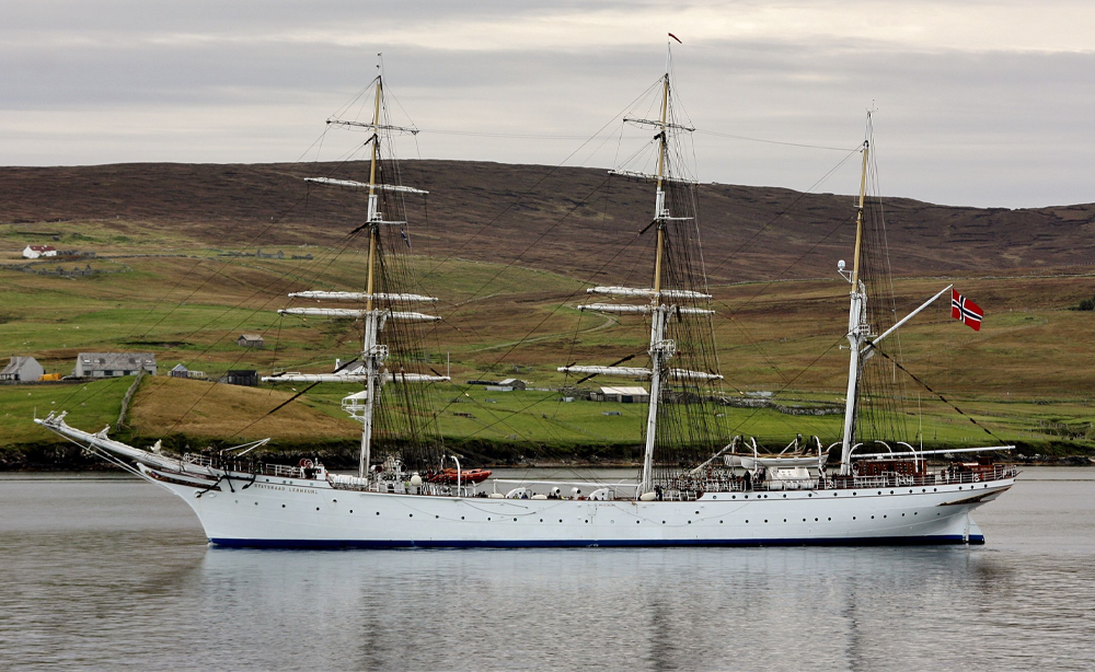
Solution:
<svg viewBox="0 0 1095 672"><path fill-rule="evenodd" d="M142 471L191 506L210 543L285 548L978 544L984 537L969 512L1014 484L592 501L387 494L265 476L244 489L244 474L207 490Z"/></svg>

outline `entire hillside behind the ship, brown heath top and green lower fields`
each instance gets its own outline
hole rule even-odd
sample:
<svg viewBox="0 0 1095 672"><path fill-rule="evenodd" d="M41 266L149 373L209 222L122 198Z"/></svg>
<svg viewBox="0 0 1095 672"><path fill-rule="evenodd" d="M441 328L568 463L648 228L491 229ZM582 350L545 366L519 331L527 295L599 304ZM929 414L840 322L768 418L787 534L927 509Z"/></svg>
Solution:
<svg viewBox="0 0 1095 672"><path fill-rule="evenodd" d="M436 310L445 316L428 337L430 366L438 371L450 367L457 383L433 390L443 435L460 450L483 457L627 460L641 440L638 406L563 403L557 392L488 393L462 383L517 376L534 387L554 389L566 382L555 371L558 366L607 364L642 354L647 331L641 318L580 313L576 306L590 280L624 283L645 268L636 262L647 252L643 241L612 264L603 262L606 250L616 250L622 236L637 240L633 224L642 216L629 218L626 212L632 207L638 211L645 200L630 186L616 186L599 209L587 211L584 202L567 206L548 194L553 181L564 178L572 181L572 193L580 192L595 178L591 172L460 167L443 162L416 167L451 207L439 210L431 201L430 224L412 231L422 290L440 298ZM111 171L118 172L116 179L107 178ZM344 196L316 195L307 213L272 223L270 208L286 198L289 181L296 184L307 167L141 166L139 188L120 178L127 171L136 169L0 169L0 185L25 197L0 208L0 247L7 247L0 256L8 257L0 258L0 349L33 355L47 371L62 374L71 372L80 351L149 350L157 354L161 374L184 363L212 379L229 369L330 371L336 357L355 356L360 324L276 312L290 291L360 289L364 257L339 242L356 221ZM180 178L183 173L187 179ZM57 190L55 182L62 178L70 181L70 198ZM265 190L247 192L265 178L272 181ZM532 196L517 198L541 178ZM483 186L476 190L472 183ZM704 192L705 209L734 211L705 220L711 232L705 255L714 259L710 267L718 266L719 255L734 258L733 265L716 269L722 280L712 288L724 393L742 397L769 391L783 405L839 402L848 366L841 349L848 290L830 271L832 259L846 256L842 245L848 241L843 233L823 239L821 230L831 229L838 205L840 217L846 216L845 199L799 199L779 189L729 186ZM784 216L786 223L775 229L761 227L751 244L756 253L731 255L733 245L760 230L757 222L771 221L792 201L806 209ZM618 206L624 215L609 216ZM947 209L910 201L894 207L895 258L911 265L931 257L925 266L938 271L898 277L897 312L903 314L952 281L987 311L982 331L975 333L952 321L941 303L884 345L949 399L942 402L891 370L906 402L908 439L922 435L925 444L976 444L999 438L1023 443L1029 454L1090 451L1095 440L1090 368L1095 313L1069 310L1095 294L1095 275L1077 265L1091 258L1088 210ZM454 211L465 220L453 219ZM105 217L107 212L114 217ZM912 225L911 233L892 224L912 217L925 221ZM982 224L992 228L995 242L982 245L969 239ZM776 233L779 241L765 237ZM46 263L19 257L27 242L45 241L95 256ZM285 258L230 256L254 255L260 246L280 250ZM961 253L944 253L950 250ZM26 271L88 265L103 273L66 277ZM799 279L786 279L791 277ZM751 279L735 281L740 278ZM238 347L242 332L264 335L267 347ZM872 366L889 364L876 358ZM41 415L67 408L70 421L89 429L114 422L129 382L0 385L0 451L10 455L26 447L58 445L30 422L35 409ZM598 384L608 383L587 383ZM351 452L357 426L338 406L346 392L314 387L255 422L296 391L158 376L142 384L124 431L139 443L168 437L180 448L272 436L289 451L307 451L319 441L333 451ZM954 405L995 438L963 419ZM758 436L769 445L785 444L796 433L827 441L839 433L835 416L735 407L725 413L734 433Z"/></svg>

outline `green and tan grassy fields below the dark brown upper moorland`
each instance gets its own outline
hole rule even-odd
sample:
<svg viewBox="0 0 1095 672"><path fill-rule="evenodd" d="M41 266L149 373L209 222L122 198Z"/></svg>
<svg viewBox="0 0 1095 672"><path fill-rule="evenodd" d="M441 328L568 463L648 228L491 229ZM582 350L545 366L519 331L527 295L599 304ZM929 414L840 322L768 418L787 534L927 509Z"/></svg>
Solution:
<svg viewBox="0 0 1095 672"><path fill-rule="evenodd" d="M328 371L336 357L355 356L360 325L353 321L283 317L276 311L287 304L288 291L357 288L361 256L313 246L308 248L311 260L229 257L224 250L191 244L163 230L142 232L130 223L126 233L118 233L122 224L57 224L62 244L70 241L96 251L97 257L88 262L93 268L117 271L78 278L16 270L22 262L13 250L15 228L0 227L0 240L12 245L2 260L9 267L0 269L3 349L34 356L47 371L62 374L71 372L81 351L147 350L155 352L161 375L185 363L211 379L229 369ZM575 305L585 298L585 285L561 275L429 257L416 258L415 265L424 278L423 291L440 298L436 311L445 316L428 336L427 354L435 370L450 367L454 381L430 392L448 440L508 447L508 454L542 460L599 451L625 456L641 442L644 407L564 403L558 392L550 391L566 382L555 371L561 364L604 364L645 350L647 334L638 318L579 313ZM898 279L900 310L911 310L949 281ZM944 403L892 371L906 402L904 438L922 439L925 445L999 439L1018 442L1029 454L1091 453L1095 314L1068 309L1076 296L1095 293L1095 277L1044 273L959 278L956 283L987 310L980 333L953 322L948 306L941 305L925 311L902 329L900 340L894 338L884 348L948 399ZM713 291L726 395L768 391L782 405L840 401L846 375L846 351L839 348L846 322L845 286L751 282ZM242 332L263 334L266 348L237 346ZM878 359L873 366L889 364ZM544 391L502 393L458 384L508 376ZM58 441L31 422L35 412L68 409L70 422L90 430L113 424L130 382L0 385L0 449L18 452ZM189 386L184 390L178 383ZM595 379L587 386L598 384L612 383ZM260 438L255 432L265 431L263 436L298 445L309 436L353 443L356 425L338 406L348 390L339 387L312 389L287 407L291 417L288 410L275 416L285 415L284 424L252 426L256 414L293 392L155 380L142 385L125 431L140 441L174 432L180 441L201 443ZM797 433L831 442L840 431L839 416L724 410L729 436L756 436L769 447L782 447Z"/></svg>

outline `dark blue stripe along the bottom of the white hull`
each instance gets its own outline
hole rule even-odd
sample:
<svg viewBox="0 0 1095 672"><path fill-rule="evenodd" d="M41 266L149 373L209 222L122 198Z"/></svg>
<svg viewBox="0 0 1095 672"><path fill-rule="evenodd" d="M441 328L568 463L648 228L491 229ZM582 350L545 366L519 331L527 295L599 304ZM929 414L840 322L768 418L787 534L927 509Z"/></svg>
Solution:
<svg viewBox="0 0 1095 672"><path fill-rule="evenodd" d="M931 544L983 544L984 536L971 534L969 541L960 534L934 536L883 536L848 538L769 538L769 540L551 540L551 541L334 541L334 540L249 540L210 538L216 546L228 548L573 548L573 547L657 547L657 546L921 546Z"/></svg>

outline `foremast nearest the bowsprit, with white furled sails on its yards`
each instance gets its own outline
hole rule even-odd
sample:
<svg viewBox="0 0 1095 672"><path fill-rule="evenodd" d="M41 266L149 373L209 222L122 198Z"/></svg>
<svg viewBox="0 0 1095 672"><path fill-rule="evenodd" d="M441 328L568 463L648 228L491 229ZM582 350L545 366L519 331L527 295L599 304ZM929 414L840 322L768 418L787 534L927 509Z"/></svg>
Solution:
<svg viewBox="0 0 1095 672"><path fill-rule="evenodd" d="M349 362L344 366L336 366L335 371L328 374L313 373L279 373L264 376L264 382L301 382L301 383L362 383L364 393L350 395L343 399L343 408L349 415L361 422L361 450L358 461L358 475L365 478L369 472L369 464L372 451L373 418L377 408L377 396L380 389L385 383L431 383L448 381L447 375L425 375L420 373L390 372L385 369L384 362L389 357L389 348L379 341L378 334L383 331L387 321L405 322L435 322L440 320L436 315L428 315L416 311L394 310L395 304L436 302L435 297L426 297L406 292L379 292L378 265L379 265L379 243L380 230L385 225L406 225L405 221L388 221L380 210L380 193L396 192L410 194L426 194L422 189L406 187L403 185L388 185L377 182L377 169L380 163L380 140L381 131L408 131L417 132L395 126L381 124L381 111L383 104L383 77L377 76L376 101L372 111L372 123L344 121L341 119L328 119L328 124L342 126L356 126L371 129L372 137L368 140L371 143L369 182L360 183L348 179L332 179L327 177L309 177L306 182L348 188L367 188L369 190L368 210L366 221L361 228L368 231L369 235L369 260L366 277L366 291L344 292L344 291L302 291L290 293L290 298L313 299L320 301L341 302L365 302L365 310L357 308L289 308L278 311L283 315L320 315L327 317L355 317L364 321L364 336L361 346L361 357L357 362Z"/></svg>

